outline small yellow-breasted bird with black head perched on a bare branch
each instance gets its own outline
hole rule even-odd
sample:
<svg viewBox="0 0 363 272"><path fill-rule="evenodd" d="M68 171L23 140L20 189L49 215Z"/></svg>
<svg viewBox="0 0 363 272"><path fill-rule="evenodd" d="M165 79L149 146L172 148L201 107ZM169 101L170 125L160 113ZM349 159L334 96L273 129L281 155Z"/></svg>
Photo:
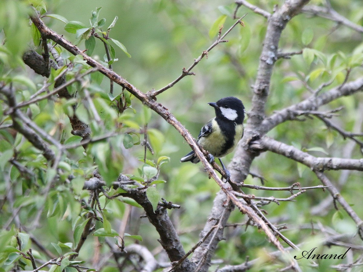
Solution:
<svg viewBox="0 0 363 272"><path fill-rule="evenodd" d="M214 157L219 159L227 182L231 174L220 158L231 153L243 137L245 107L241 100L232 96L221 98L217 102L209 102L208 105L214 107L216 117L201 128L197 142L208 151L209 163L214 161ZM198 163L199 161L194 151L180 159L180 162Z"/></svg>

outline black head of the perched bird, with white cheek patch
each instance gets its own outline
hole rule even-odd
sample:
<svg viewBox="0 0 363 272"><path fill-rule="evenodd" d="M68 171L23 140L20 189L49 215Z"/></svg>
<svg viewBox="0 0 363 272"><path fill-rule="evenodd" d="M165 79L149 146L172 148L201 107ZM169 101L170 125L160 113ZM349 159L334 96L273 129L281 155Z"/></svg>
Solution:
<svg viewBox="0 0 363 272"><path fill-rule="evenodd" d="M208 105L214 107L216 117L224 121L232 121L237 124L243 123L245 119L245 107L241 100L236 97L225 97L216 103L209 102Z"/></svg>

